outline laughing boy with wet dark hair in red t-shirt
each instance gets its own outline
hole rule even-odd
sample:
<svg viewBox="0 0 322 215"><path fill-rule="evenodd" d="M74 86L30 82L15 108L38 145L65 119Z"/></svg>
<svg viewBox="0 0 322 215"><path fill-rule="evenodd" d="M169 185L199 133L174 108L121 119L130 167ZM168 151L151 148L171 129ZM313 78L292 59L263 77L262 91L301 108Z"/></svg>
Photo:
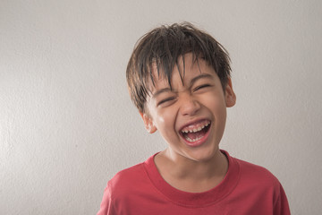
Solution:
<svg viewBox="0 0 322 215"><path fill-rule="evenodd" d="M140 39L126 71L131 99L168 147L116 174L97 214L290 214L275 176L219 150L236 101L229 63L225 48L190 23Z"/></svg>

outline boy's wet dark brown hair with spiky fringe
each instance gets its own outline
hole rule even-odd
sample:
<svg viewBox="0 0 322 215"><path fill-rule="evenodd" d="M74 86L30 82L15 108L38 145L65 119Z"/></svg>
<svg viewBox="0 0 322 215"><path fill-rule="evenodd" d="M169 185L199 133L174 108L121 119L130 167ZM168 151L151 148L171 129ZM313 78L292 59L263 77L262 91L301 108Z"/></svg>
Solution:
<svg viewBox="0 0 322 215"><path fill-rule="evenodd" d="M198 57L202 57L214 68L225 91L231 73L225 47L189 22L162 25L139 39L126 69L131 100L141 113L144 113L150 93L148 83L155 83L152 67L157 65L158 77L166 78L171 88L174 66L179 70L178 61L182 57L184 68L183 55L190 52L194 61L198 62ZM184 69L179 73L183 81Z"/></svg>

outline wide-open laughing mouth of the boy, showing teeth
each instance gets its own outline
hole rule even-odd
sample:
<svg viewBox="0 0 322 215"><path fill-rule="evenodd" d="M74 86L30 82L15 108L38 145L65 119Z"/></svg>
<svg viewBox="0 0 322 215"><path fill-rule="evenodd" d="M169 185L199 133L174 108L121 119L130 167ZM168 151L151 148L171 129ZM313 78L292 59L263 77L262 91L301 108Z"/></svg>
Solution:
<svg viewBox="0 0 322 215"><path fill-rule="evenodd" d="M209 128L210 121L204 120L198 124L184 127L181 131L181 135L186 142L198 142L208 133Z"/></svg>

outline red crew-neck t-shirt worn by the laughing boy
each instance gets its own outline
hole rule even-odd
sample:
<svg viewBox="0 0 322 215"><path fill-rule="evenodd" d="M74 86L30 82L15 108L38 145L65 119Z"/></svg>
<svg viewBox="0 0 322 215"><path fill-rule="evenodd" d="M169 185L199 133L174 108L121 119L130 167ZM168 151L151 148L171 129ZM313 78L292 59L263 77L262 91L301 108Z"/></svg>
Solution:
<svg viewBox="0 0 322 215"><path fill-rule="evenodd" d="M151 156L107 183L97 215L290 214L284 189L275 176L222 151L229 168L215 188L203 193L177 190L158 173Z"/></svg>

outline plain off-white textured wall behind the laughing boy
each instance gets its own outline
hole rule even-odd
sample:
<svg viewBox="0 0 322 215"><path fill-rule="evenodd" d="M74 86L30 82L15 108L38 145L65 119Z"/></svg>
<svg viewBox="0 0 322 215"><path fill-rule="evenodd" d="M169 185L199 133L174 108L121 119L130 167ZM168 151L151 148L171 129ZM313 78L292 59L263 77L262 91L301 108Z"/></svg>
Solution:
<svg viewBox="0 0 322 215"><path fill-rule="evenodd" d="M106 182L162 150L131 105L137 39L189 21L230 52L222 148L320 214L321 1L0 0L0 214L94 214Z"/></svg>

